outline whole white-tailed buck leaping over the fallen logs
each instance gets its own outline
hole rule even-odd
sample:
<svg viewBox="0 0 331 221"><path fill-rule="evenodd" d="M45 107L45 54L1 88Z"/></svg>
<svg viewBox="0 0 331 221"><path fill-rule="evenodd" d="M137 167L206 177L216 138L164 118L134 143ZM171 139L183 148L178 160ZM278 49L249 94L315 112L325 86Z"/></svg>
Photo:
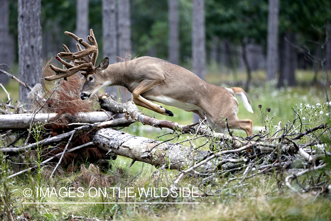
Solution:
<svg viewBox="0 0 331 221"><path fill-rule="evenodd" d="M77 44L78 52L71 53L68 47L63 45L66 52L60 52L56 59L67 69L49 65L56 74L46 77L45 80L53 81L60 78L67 80L67 77L83 71L85 83L80 95L82 100L88 99L102 87L120 85L133 94L132 101L136 105L157 113L173 116L171 111L151 101L192 111L201 118L206 114L208 123L218 131L226 128L224 119L227 118L229 128L242 129L247 136L253 135L252 120L239 120L237 117L238 100L235 94L241 97L246 109L253 113L243 89L224 88L207 83L185 68L153 57L139 57L111 65L108 58L105 58L95 67L98 44L93 30L91 29L90 35L87 36L87 40L92 45L71 32L66 31L65 34L78 41L85 49L82 50ZM74 60L73 64L60 57Z"/></svg>

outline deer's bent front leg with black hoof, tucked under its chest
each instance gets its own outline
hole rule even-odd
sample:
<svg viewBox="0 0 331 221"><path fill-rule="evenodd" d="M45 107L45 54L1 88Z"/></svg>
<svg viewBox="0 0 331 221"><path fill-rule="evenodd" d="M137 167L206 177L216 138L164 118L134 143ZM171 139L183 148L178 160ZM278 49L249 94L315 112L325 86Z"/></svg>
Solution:
<svg viewBox="0 0 331 221"><path fill-rule="evenodd" d="M160 105L157 105L145 98L143 98L140 94L144 93L145 91L151 89L153 86L159 84L156 80L143 80L133 91L133 99L132 101L141 107L148 108L152 111L155 111L159 114L167 115L167 116L173 116L172 112L167 110L166 108L163 108Z"/></svg>

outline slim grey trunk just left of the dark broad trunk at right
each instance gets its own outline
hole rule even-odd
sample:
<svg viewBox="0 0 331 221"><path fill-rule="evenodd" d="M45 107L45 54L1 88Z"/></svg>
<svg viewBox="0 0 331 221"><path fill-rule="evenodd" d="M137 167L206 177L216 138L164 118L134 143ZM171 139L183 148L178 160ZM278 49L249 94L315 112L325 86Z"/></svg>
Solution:
<svg viewBox="0 0 331 221"><path fill-rule="evenodd" d="M279 0L269 0L267 36L267 81L276 79L278 64L278 14Z"/></svg>

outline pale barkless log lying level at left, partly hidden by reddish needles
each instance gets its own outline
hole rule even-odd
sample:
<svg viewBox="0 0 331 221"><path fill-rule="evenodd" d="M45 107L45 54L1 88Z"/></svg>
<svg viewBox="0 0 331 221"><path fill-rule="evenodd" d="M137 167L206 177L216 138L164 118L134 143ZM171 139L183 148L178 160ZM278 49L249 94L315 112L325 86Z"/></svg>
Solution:
<svg viewBox="0 0 331 221"><path fill-rule="evenodd" d="M30 126L34 114L4 114L0 115L0 129L27 129ZM49 119L56 117L58 114L35 114L33 123L48 123ZM89 112L77 113L76 116L70 116L71 122L94 124L97 122L107 121L112 112Z"/></svg>

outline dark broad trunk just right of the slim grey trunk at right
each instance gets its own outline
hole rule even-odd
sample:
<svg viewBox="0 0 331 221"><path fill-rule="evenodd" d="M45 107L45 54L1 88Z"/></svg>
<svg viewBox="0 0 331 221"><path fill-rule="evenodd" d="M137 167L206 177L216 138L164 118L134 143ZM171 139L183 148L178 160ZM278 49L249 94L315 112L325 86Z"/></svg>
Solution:
<svg viewBox="0 0 331 221"><path fill-rule="evenodd" d="M297 66L296 49L292 46L295 44L295 33L289 32L282 34L280 39L280 68L278 87L296 86L295 69Z"/></svg>

